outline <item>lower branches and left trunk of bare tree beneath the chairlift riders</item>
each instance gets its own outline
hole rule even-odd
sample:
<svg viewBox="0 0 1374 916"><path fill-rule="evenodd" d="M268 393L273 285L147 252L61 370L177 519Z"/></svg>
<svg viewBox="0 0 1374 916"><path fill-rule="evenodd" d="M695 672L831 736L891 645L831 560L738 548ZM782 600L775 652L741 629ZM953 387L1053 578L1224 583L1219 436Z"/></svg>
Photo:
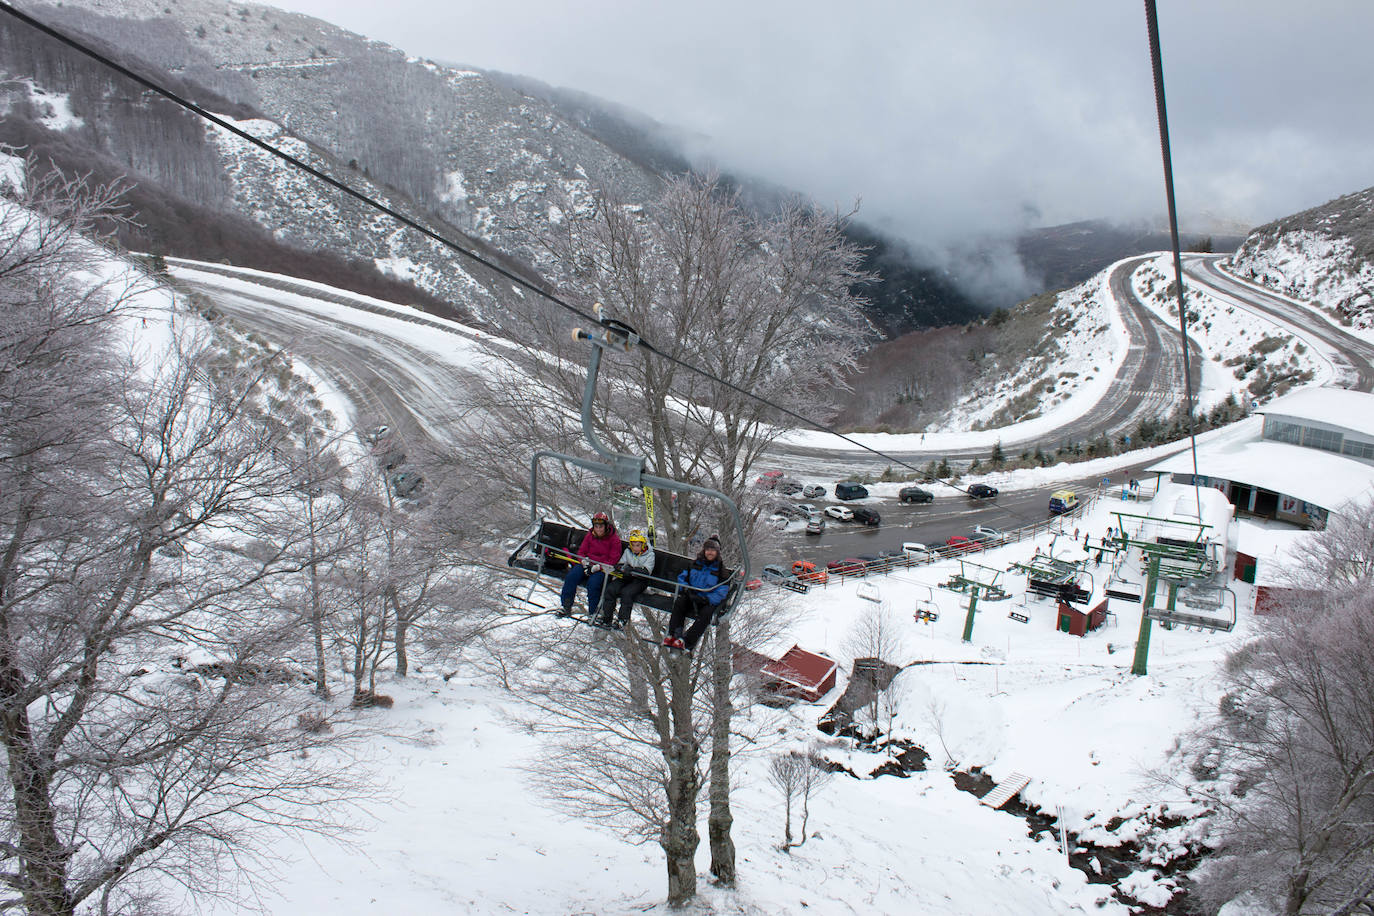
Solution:
<svg viewBox="0 0 1374 916"><path fill-rule="evenodd" d="M746 639L767 637L780 618L767 602L735 615ZM587 640L580 629L551 634L537 619L493 628L485 639L508 643L493 645L493 655L508 659L503 676L537 710L522 722L545 736L532 769L536 781L570 813L632 840L657 842L668 898L677 905L697 891L698 802L719 721L719 698L705 688L714 680L720 637L713 628L717 634L695 652L668 654L651 644L665 622L660 611L640 607L622 633L603 641ZM731 687L749 689L742 678ZM731 702L738 702L734 694ZM739 725L735 736L756 744L769 722Z"/></svg>

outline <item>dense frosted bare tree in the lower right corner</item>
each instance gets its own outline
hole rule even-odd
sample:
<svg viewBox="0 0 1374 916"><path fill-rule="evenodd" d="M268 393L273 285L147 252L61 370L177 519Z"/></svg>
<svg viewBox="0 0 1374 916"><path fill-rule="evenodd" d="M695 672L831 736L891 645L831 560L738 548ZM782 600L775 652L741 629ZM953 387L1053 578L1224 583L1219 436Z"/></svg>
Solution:
<svg viewBox="0 0 1374 916"><path fill-rule="evenodd" d="M1219 812L1201 882L1212 902L1252 891L1289 916L1370 905L1374 578L1356 529L1318 536L1297 575L1312 588L1232 654L1219 713L1193 736L1194 791Z"/></svg>

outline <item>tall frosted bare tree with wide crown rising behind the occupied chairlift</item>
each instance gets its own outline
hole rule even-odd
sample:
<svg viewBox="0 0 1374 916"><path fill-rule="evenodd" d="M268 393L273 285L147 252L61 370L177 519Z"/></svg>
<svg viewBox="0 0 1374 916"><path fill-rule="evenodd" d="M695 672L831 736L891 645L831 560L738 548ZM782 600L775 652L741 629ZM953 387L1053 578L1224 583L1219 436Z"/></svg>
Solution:
<svg viewBox="0 0 1374 916"><path fill-rule="evenodd" d="M669 181L650 206L625 206L605 195L566 201L562 213L565 218L536 240L540 268L574 290L584 306L605 304L657 350L603 364L609 378L592 417L598 435L617 452L644 456L653 474L734 499L746 509L752 540L760 500L747 488L750 468L783 417L745 393L823 415L871 332L852 293L866 277L859 253L841 235L842 220L801 205L760 218L714 180L692 176ZM504 368L486 374L492 389L480 411L495 422L485 445L474 437L474 455L502 456L497 467L511 468L511 441L584 450L570 405L581 400L585 353L569 341L566 314L529 297L508 323L511 335L534 343L540 356L511 352ZM523 475L507 479L525 488ZM547 483L544 493L562 483L562 493L576 494L569 481ZM732 542L719 507L655 496L655 511L666 519L657 526L666 547L684 551L694 537L720 534L727 555L747 549ZM709 834L712 873L727 884L735 878L730 644L728 623L721 623L713 639Z"/></svg>

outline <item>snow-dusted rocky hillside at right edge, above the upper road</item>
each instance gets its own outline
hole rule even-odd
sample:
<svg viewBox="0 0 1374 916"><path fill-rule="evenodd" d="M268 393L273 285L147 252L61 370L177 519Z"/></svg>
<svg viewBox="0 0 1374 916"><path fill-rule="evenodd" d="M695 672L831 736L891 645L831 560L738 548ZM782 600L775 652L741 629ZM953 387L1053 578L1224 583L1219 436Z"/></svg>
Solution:
<svg viewBox="0 0 1374 916"><path fill-rule="evenodd" d="M1348 327L1374 328L1374 188L1254 229L1227 266Z"/></svg>

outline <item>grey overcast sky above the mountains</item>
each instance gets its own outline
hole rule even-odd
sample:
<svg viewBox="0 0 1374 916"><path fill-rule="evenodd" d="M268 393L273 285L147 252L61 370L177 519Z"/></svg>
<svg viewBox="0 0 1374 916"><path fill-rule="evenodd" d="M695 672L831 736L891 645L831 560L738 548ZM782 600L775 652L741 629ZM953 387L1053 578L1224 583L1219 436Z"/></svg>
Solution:
<svg viewBox="0 0 1374 916"><path fill-rule="evenodd" d="M918 243L1165 214L1139 0L275 5L628 104ZM1184 229L1374 185L1374 1L1158 7Z"/></svg>

